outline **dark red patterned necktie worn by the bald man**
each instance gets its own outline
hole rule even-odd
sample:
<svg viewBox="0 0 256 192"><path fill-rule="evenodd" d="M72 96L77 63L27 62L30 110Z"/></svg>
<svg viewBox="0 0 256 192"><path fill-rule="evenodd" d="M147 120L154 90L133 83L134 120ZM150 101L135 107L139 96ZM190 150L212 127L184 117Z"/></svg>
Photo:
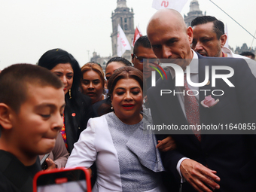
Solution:
<svg viewBox="0 0 256 192"><path fill-rule="evenodd" d="M184 106L187 116L187 122L190 125L194 125L194 128L197 128L197 125L200 125L199 104L196 97L194 96L193 91L190 90L190 88L187 86L186 73L184 74L184 90ZM197 139L201 141L200 130L193 130L193 132L195 136L197 136Z"/></svg>

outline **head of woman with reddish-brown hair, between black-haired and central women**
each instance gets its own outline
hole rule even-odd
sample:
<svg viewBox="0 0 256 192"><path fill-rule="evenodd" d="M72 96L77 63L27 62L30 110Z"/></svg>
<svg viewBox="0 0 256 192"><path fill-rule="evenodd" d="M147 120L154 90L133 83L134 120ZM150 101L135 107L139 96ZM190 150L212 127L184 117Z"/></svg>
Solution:
<svg viewBox="0 0 256 192"><path fill-rule="evenodd" d="M104 72L96 62L87 62L81 68L83 78L81 81L82 93L90 96L92 104L105 99L104 93Z"/></svg>

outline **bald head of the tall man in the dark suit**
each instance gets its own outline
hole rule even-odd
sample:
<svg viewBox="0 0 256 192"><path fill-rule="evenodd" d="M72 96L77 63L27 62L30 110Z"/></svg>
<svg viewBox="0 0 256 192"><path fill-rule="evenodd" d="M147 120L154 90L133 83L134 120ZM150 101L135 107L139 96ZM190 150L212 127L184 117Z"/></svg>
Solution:
<svg viewBox="0 0 256 192"><path fill-rule="evenodd" d="M192 59L191 27L186 27L183 17L173 9L161 9L149 20L148 39L155 55L160 59Z"/></svg>

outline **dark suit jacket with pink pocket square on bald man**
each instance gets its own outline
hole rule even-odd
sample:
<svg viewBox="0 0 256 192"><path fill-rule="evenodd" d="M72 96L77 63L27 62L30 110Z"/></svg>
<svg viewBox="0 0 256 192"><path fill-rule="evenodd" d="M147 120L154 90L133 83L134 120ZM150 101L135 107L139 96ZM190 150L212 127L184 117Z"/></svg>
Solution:
<svg viewBox="0 0 256 192"><path fill-rule="evenodd" d="M200 105L201 124L219 123L256 123L256 79L248 69L244 59L210 58L198 54L199 58L199 82L205 79L205 66L209 66L209 85L200 87L200 90L224 90L223 96L213 96L220 101L213 108L204 108ZM229 80L235 87L229 87L222 79L216 79L216 87L212 87L211 66L230 66L234 69L233 77ZM221 70L217 74L229 72ZM154 124L188 124L177 96L163 94L160 90L175 90L172 76L168 73L165 78L157 81L156 87L148 90L148 100ZM217 92L216 92L217 93ZM205 98L204 91L200 91L200 101ZM168 111L168 112L166 112ZM171 132L172 134L172 132ZM163 163L167 170L180 176L176 170L178 160L188 157L217 171L221 178L220 191L256 191L255 171L255 135L201 135L199 142L191 131L187 135L172 134L177 148L163 154ZM193 191L185 182L183 191Z"/></svg>

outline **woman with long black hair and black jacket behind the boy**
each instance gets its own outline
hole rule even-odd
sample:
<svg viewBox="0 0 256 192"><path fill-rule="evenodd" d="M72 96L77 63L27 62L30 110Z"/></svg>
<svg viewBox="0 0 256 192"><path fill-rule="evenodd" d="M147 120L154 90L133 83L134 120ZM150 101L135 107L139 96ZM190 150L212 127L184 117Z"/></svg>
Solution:
<svg viewBox="0 0 256 192"><path fill-rule="evenodd" d="M82 78L80 66L72 54L62 49L48 50L39 59L38 66L55 73L65 86L66 107L61 133L71 153L80 133L87 127L87 121L94 116L90 98L79 92Z"/></svg>

